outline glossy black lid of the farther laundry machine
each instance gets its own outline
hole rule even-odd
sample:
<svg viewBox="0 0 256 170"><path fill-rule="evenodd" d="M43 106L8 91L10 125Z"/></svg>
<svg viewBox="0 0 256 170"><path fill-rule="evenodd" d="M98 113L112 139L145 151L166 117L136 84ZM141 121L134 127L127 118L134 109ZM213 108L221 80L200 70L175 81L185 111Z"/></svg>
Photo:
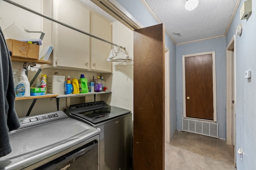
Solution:
<svg viewBox="0 0 256 170"><path fill-rule="evenodd" d="M79 113L71 113L71 115L80 117L96 125L101 122L120 117L130 113L130 110L123 109L115 106L105 106L99 109L94 109L91 111L80 111Z"/></svg>

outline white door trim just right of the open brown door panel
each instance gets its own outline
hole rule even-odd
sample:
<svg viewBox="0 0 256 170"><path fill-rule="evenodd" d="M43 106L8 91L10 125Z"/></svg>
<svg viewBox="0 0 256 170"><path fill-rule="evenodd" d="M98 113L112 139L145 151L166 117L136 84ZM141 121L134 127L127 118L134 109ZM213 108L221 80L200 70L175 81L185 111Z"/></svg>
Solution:
<svg viewBox="0 0 256 170"><path fill-rule="evenodd" d="M170 50L165 47L164 53L164 141L170 143Z"/></svg>

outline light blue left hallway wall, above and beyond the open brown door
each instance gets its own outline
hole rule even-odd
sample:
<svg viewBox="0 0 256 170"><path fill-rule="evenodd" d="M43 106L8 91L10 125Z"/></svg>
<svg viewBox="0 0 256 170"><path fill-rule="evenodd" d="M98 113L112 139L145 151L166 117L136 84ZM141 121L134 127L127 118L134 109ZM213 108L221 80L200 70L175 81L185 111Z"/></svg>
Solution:
<svg viewBox="0 0 256 170"><path fill-rule="evenodd" d="M116 0L144 27L158 24L140 0ZM176 46L165 34L165 46L170 49L170 135L176 131Z"/></svg>

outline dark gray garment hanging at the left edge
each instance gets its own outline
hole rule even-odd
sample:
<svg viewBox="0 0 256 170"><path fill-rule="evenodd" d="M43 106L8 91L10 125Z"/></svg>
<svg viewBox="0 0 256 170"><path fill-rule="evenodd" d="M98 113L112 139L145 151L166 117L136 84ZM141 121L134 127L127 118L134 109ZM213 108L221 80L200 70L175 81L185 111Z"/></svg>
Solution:
<svg viewBox="0 0 256 170"><path fill-rule="evenodd" d="M0 27L0 157L12 152L9 131L20 127L14 102L15 90L12 62Z"/></svg>

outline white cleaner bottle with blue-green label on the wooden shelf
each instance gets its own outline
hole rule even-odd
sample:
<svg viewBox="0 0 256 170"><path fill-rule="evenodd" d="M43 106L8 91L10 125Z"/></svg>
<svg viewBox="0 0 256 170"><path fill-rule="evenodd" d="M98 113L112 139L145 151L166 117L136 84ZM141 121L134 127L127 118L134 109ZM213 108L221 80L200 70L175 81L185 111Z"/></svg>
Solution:
<svg viewBox="0 0 256 170"><path fill-rule="evenodd" d="M16 97L29 97L30 96L30 83L26 76L26 69L20 68L20 81L16 86Z"/></svg>

